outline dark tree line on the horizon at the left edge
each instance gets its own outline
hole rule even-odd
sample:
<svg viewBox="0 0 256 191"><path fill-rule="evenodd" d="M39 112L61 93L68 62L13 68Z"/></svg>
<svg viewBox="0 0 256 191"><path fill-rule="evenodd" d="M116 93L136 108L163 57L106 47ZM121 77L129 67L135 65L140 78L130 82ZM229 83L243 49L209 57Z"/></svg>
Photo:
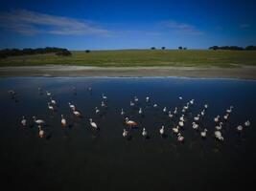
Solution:
<svg viewBox="0 0 256 191"><path fill-rule="evenodd" d="M67 49L57 48L57 47L46 47L37 49L2 49L0 50L0 58L6 58L13 55L28 55L37 53L56 53L57 55L71 55Z"/></svg>

